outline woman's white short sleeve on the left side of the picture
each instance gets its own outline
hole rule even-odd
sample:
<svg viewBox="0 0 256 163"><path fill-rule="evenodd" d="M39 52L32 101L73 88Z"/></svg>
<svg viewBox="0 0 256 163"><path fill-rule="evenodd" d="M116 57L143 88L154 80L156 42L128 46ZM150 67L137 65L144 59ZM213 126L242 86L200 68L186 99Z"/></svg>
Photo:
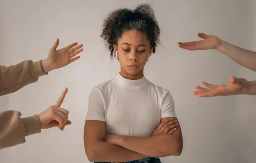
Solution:
<svg viewBox="0 0 256 163"><path fill-rule="evenodd" d="M88 111L85 118L87 120L96 120L105 122L104 101L98 88L93 88L88 101Z"/></svg>

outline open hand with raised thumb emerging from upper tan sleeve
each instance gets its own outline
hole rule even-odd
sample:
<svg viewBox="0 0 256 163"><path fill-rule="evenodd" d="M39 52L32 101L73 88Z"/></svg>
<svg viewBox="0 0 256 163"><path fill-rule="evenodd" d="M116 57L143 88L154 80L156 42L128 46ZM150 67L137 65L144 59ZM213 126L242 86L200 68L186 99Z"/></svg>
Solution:
<svg viewBox="0 0 256 163"><path fill-rule="evenodd" d="M45 72L67 66L68 64L78 60L80 56L76 55L83 51L83 45L78 45L77 42L74 42L73 44L67 45L64 48L57 50L58 45L59 39L56 40L56 42L50 49L48 57L42 61L43 70Z"/></svg>

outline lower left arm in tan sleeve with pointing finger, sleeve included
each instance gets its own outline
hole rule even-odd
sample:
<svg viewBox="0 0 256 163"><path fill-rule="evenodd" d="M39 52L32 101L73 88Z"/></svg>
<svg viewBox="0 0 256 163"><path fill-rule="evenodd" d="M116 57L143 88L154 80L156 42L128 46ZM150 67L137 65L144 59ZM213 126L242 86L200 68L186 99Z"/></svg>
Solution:
<svg viewBox="0 0 256 163"><path fill-rule="evenodd" d="M71 124L68 121L68 111L60 108L66 93L65 88L55 105L39 115L21 118L21 112L18 111L0 112L0 149L23 144L26 136L41 133L41 129L59 126L63 130L66 125Z"/></svg>

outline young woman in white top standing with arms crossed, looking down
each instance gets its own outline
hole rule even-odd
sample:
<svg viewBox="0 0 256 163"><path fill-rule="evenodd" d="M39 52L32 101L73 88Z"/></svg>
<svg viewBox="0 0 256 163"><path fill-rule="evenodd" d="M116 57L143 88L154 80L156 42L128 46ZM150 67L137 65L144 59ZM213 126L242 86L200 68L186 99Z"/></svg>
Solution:
<svg viewBox="0 0 256 163"><path fill-rule="evenodd" d="M159 157L180 155L183 139L173 98L143 75L159 42L153 9L148 4L117 9L103 27L101 37L121 70L89 96L84 128L88 160L161 163Z"/></svg>

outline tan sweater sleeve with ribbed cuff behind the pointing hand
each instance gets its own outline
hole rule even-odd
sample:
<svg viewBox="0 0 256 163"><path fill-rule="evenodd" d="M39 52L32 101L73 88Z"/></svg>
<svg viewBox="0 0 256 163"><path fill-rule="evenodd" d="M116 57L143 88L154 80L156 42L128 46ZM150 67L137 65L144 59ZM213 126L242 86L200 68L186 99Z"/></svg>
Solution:
<svg viewBox="0 0 256 163"><path fill-rule="evenodd" d="M25 136L41 132L37 115L21 118L21 112L0 112L0 149L26 142Z"/></svg>

